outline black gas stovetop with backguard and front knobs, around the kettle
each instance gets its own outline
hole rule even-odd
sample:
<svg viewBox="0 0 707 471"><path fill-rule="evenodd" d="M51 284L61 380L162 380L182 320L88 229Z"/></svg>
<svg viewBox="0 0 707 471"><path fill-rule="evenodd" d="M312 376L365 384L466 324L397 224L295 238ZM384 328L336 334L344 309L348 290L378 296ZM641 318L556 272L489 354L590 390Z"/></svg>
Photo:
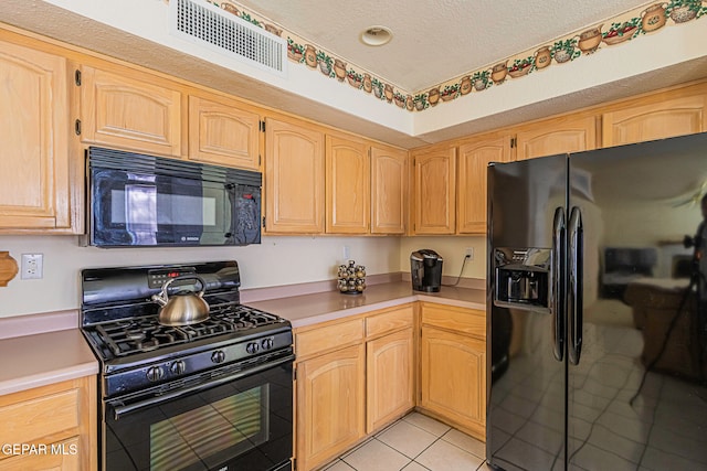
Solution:
<svg viewBox="0 0 707 471"><path fill-rule="evenodd" d="M184 274L204 280L209 319L162 325L151 296ZM82 330L102 364L104 397L292 355L289 322L240 303L235 261L89 269L82 276Z"/></svg>

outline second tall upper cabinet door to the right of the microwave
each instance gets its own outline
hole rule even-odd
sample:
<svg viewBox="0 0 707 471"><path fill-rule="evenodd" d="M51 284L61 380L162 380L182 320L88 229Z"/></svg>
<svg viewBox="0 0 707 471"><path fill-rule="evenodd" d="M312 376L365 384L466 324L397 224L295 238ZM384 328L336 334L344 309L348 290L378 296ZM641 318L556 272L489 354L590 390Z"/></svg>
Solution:
<svg viewBox="0 0 707 471"><path fill-rule="evenodd" d="M326 232L369 232L371 160L365 141L326 137Z"/></svg>

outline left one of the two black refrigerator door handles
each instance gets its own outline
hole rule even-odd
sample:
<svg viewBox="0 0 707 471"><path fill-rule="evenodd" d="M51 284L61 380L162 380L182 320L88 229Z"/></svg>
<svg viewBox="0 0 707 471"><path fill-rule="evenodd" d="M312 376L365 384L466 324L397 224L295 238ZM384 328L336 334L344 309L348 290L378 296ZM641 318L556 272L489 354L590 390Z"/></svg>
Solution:
<svg viewBox="0 0 707 471"><path fill-rule="evenodd" d="M550 300L552 304L550 312L555 317L552 322L552 339L555 340L552 353L559 362L564 358L564 319L567 318L563 261L567 253L564 231L564 208L558 207L555 210L555 217L552 218L552 281L550 283L550 289L552 290Z"/></svg>

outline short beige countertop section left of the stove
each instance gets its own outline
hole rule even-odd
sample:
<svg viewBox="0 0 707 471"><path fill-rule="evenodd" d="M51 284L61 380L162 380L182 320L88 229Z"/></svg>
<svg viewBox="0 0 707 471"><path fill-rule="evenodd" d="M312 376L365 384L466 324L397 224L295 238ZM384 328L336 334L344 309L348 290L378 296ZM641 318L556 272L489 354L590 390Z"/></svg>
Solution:
<svg viewBox="0 0 707 471"><path fill-rule="evenodd" d="M0 396L98 373L78 329L0 340Z"/></svg>

